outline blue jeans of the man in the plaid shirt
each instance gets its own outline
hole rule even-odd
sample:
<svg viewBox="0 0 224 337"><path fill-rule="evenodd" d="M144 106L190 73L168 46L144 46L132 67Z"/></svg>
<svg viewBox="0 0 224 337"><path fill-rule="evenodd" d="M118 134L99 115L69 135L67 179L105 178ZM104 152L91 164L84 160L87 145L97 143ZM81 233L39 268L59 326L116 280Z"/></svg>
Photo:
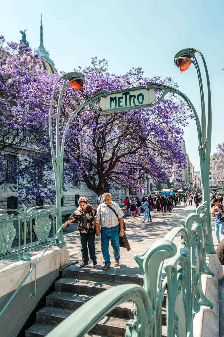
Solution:
<svg viewBox="0 0 224 337"><path fill-rule="evenodd" d="M110 266L109 240L114 249L115 261L120 260L119 227L101 228L101 251L103 254L103 263Z"/></svg>

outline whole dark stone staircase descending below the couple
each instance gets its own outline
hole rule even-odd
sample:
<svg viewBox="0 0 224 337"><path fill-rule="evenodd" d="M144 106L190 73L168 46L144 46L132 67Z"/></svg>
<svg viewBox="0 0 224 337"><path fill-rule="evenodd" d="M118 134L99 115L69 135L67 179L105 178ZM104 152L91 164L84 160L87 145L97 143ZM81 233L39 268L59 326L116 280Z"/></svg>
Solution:
<svg viewBox="0 0 224 337"><path fill-rule="evenodd" d="M62 278L55 282L55 291L46 297L46 305L36 313L36 323L25 332L25 337L45 336L63 319L95 295L118 284L135 283L143 285L143 278L110 274L110 270L80 269L71 265L62 269ZM162 335L166 336L166 307L162 308ZM125 337L126 322L134 318L132 302L124 302L109 312L84 337ZM85 317L84 317L85 319ZM74 327L75 329L75 327Z"/></svg>

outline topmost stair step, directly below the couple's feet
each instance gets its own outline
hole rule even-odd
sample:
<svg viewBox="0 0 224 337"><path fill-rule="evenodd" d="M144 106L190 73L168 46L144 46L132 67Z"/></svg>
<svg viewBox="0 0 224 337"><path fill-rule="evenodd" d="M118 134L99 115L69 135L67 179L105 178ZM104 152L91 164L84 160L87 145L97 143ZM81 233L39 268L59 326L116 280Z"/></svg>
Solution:
<svg viewBox="0 0 224 337"><path fill-rule="evenodd" d="M69 266L66 269L63 269L62 276L63 278L73 278L73 279L82 279L82 280L95 280L99 282L109 282L109 283L117 283L117 284L128 284L134 283L143 286L143 277L137 276L125 276L118 274L110 274L110 269L105 271L95 269L88 270L88 267L85 269L80 269L77 265ZM113 271L114 272L114 271Z"/></svg>

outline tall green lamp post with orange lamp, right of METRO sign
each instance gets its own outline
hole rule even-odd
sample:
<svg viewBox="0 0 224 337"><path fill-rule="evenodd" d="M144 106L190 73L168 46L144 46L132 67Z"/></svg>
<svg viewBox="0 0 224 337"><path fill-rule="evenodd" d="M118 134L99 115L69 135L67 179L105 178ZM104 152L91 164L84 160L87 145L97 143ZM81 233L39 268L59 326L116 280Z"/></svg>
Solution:
<svg viewBox="0 0 224 337"><path fill-rule="evenodd" d="M207 107L207 128L206 128L206 109L204 101L204 91L201 78L201 72L195 53L198 53L202 59L206 81L207 81L207 95L208 95L208 107ZM201 101L201 123L199 119L195 118L198 132L199 140L199 157L200 157L200 167L201 167L201 187L202 187L202 201L207 202L208 209L210 209L210 200L209 200L209 171L210 171L210 154L211 154L211 141L212 141L212 104L211 104L211 89L209 74L207 71L207 66L204 60L202 53L196 48L182 49L174 57L175 65L180 68L181 72L187 70L191 63L194 64L199 81L200 88L200 101ZM207 231L208 231L208 242L209 242L209 252L214 253L214 245L212 239L212 226L211 226L211 217L207 216Z"/></svg>

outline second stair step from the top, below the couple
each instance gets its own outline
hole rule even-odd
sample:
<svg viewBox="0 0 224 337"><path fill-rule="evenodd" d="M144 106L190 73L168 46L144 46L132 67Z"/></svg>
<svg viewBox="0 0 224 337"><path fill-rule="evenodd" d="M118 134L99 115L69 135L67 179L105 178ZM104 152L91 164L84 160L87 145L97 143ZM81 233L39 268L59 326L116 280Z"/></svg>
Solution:
<svg viewBox="0 0 224 337"><path fill-rule="evenodd" d="M55 290L57 292L94 296L116 285L118 284L63 277L55 282Z"/></svg>

